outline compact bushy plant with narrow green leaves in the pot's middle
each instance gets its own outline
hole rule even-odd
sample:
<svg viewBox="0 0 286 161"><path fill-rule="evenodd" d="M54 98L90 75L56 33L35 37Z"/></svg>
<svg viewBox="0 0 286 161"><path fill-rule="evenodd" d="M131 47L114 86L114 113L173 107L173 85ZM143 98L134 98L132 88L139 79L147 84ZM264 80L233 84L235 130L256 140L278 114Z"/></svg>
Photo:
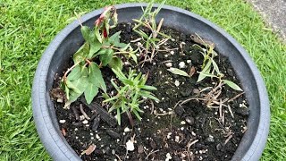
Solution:
<svg viewBox="0 0 286 161"><path fill-rule="evenodd" d="M107 94L103 94L105 97L104 103L110 103L112 106L109 108L109 112L116 110L118 124L121 124L121 114L126 113L130 120L130 124L133 126L133 119L130 113L136 115L136 117L141 120L139 113L143 111L139 108L140 103L144 102L143 97L154 99L159 101L158 98L154 96L148 90L156 90L153 86L145 85L147 81L147 75L142 75L141 72L136 74L135 71L129 71L126 76L121 70L112 69L118 78L122 82L122 86L118 86L114 80L111 83L117 91L114 97L109 97Z"/></svg>

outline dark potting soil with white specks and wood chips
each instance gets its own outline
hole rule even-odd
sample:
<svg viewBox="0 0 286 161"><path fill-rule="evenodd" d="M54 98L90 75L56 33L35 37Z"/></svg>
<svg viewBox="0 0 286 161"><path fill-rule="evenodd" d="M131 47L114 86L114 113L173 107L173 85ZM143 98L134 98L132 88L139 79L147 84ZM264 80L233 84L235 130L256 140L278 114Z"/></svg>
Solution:
<svg viewBox="0 0 286 161"><path fill-rule="evenodd" d="M130 24L119 24L112 32L118 30L122 30L122 42L129 43L139 38L132 32ZM168 72L167 66L172 64L172 67L180 68L181 62L185 64L181 66L185 72L189 73L191 67L201 71L203 56L192 47L195 42L190 35L169 28L163 28L163 32L172 39L160 47L162 51L156 54L152 63L145 63L143 67L131 63L123 69L126 72L132 67L143 73L148 72L147 85L157 88L153 93L160 99L160 102L147 100L141 105L143 119L139 122L133 116L134 127L131 127L126 114L122 114L121 126L112 126L80 100L73 103L70 110L63 109L61 103L55 103L61 131L83 160L231 160L247 130L247 100L240 95L241 91L223 85L216 100L226 100L226 106L209 108L205 101L198 99L178 106L178 102L190 97L204 97L217 86L217 80L208 78L197 82L197 72L191 78ZM240 84L226 57L219 55L215 61L225 75L224 79ZM110 79L115 79L114 73L109 68L103 68L102 73L107 92L116 94L110 83ZM55 79L54 88L58 87L60 79ZM239 97L229 100L235 96ZM92 105L101 106L102 101L99 94ZM81 115L80 104L90 120L76 119L75 114ZM127 151L126 142L130 141L135 149ZM91 154L81 155L93 144L96 148Z"/></svg>

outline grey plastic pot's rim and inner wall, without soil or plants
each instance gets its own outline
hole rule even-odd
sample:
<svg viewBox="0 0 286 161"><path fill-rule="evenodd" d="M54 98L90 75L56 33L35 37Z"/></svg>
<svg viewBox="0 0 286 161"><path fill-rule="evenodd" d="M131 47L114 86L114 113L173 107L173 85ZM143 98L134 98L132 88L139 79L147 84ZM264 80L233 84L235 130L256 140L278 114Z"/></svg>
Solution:
<svg viewBox="0 0 286 161"><path fill-rule="evenodd" d="M130 22L142 14L141 6L147 4L120 4L117 8L119 22ZM157 5L155 5L157 6ZM93 26L99 9L81 17L84 25ZM232 160L258 160L265 148L270 123L270 108L265 83L256 65L240 44L221 28L210 21L181 8L164 5L157 15L164 17L164 26L184 33L197 33L201 38L214 42L215 49L229 58L249 104L248 131L240 141ZM32 89L32 106L38 135L50 157L55 160L80 160L64 139L55 115L55 104L49 95L55 73L62 72L83 43L80 24L73 21L63 29L46 48L38 64Z"/></svg>

